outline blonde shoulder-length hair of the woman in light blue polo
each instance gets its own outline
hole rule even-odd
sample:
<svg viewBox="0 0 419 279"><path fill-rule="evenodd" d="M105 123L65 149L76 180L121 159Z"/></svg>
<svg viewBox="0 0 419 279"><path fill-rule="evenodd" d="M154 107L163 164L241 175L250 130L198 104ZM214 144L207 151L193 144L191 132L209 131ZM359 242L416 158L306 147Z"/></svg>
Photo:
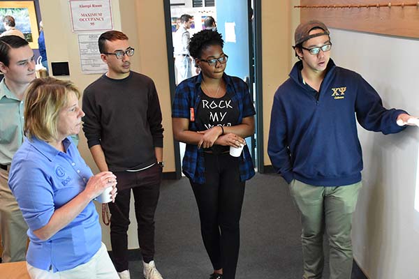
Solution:
<svg viewBox="0 0 419 279"><path fill-rule="evenodd" d="M59 111L68 105L71 92L80 98L80 91L73 82L54 77L36 79L29 84L24 100L24 133L29 139L59 140Z"/></svg>

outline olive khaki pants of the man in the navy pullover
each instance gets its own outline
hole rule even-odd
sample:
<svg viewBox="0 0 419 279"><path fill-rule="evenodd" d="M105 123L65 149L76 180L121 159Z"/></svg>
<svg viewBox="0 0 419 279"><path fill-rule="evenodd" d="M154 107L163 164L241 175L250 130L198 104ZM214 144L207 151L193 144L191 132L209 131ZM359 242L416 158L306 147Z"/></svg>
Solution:
<svg viewBox="0 0 419 279"><path fill-rule="evenodd" d="M330 279L351 279L352 213L362 183L348 186L311 186L297 180L290 192L301 213L303 279L320 279L323 273L323 234L330 246Z"/></svg>

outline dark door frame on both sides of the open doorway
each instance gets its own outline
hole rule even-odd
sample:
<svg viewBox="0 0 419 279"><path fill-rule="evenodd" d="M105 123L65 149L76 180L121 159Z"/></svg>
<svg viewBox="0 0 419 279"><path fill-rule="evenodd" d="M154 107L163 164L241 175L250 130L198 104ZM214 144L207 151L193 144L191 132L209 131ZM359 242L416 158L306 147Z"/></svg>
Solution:
<svg viewBox="0 0 419 279"><path fill-rule="evenodd" d="M263 144L263 86L262 86L262 13L261 13L261 1L262 0L248 0L248 6L253 1L253 17L255 24L255 36L253 43L255 54L255 70L254 79L256 87L256 150L258 154L258 160L256 167L258 172L264 172L264 144ZM172 22L170 15L170 0L163 0L164 8L164 20L166 27L166 46L168 54L168 70L169 70L169 88L170 88L170 100L173 101L175 98L176 82L175 82L175 63L172 61L173 57L173 40L172 40ZM251 24L249 24L249 31L251 31ZM250 37L250 36L249 36ZM249 50L250 51L250 50ZM175 151L175 177L180 179L182 177L182 169L180 163L180 151L179 142L173 139L173 147Z"/></svg>

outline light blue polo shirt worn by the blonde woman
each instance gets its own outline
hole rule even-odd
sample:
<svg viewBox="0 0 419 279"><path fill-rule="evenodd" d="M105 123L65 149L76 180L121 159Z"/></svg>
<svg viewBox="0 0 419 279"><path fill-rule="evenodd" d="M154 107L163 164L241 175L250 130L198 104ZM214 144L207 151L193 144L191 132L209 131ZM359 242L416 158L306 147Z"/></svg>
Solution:
<svg viewBox="0 0 419 279"><path fill-rule="evenodd" d="M70 138L63 143L66 153L25 137L13 157L8 182L29 226L27 262L54 272L89 262L102 237L93 202L50 239L43 241L34 234L47 225L56 209L80 194L93 175Z"/></svg>

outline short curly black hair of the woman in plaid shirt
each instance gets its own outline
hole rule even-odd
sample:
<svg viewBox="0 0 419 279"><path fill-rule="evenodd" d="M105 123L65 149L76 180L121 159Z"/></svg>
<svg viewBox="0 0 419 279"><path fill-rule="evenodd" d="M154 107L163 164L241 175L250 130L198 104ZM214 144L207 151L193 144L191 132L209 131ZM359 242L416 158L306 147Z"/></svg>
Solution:
<svg viewBox="0 0 419 279"><path fill-rule="evenodd" d="M217 31L199 31L193 35L189 42L189 53L193 58L200 58L203 49L210 45L219 45L222 48L224 46L223 36Z"/></svg>

